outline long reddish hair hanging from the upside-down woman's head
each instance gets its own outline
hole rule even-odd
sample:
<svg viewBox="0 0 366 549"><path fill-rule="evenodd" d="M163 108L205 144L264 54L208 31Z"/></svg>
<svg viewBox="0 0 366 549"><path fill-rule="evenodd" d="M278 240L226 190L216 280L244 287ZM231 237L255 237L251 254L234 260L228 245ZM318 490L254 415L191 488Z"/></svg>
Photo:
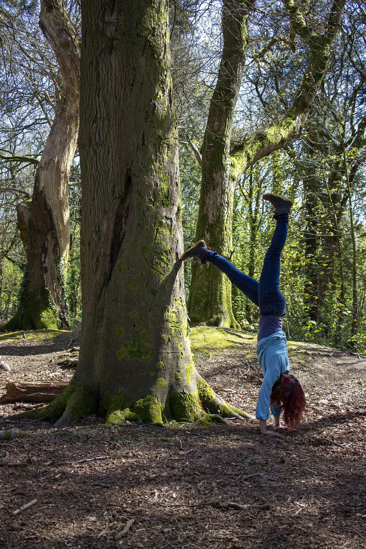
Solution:
<svg viewBox="0 0 366 549"><path fill-rule="evenodd" d="M286 425L295 429L306 415L306 398L299 379L291 374L281 374L272 388L271 406L280 407Z"/></svg>

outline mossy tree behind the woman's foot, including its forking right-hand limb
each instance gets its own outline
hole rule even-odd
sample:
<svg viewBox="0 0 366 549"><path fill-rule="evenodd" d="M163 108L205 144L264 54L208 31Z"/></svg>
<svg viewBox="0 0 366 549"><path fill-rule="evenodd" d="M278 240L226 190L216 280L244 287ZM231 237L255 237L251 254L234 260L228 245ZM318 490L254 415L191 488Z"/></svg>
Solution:
<svg viewBox="0 0 366 549"><path fill-rule="evenodd" d="M282 149L291 139L300 136L328 69L330 44L339 32L340 14L345 4L345 0L335 0L328 18L321 22L324 25L324 32L317 33L306 24L300 8L296 7L293 0L283 1L294 31L309 47L308 66L286 116L266 130L248 136L232 150L229 150L231 121L237 100L233 91L239 90L240 87L245 53L243 47L245 49L247 35L245 18L240 18L240 14L234 19L229 19L227 23L223 21L224 44L229 43L231 49L225 51L224 47L202 144L202 187L196 233L197 239L204 238L206 243L221 255L230 254L232 246L233 194L237 178L258 160ZM235 2L235 5L239 6L239 3ZM224 2L224 6L227 9L223 10L223 17L233 13L232 2ZM243 4L241 9L243 10ZM230 31L225 37L225 31L228 29ZM241 57L240 37L243 39ZM230 59L230 55L233 55L233 59ZM228 59L230 62L226 65ZM226 126L222 124L224 121ZM199 264L192 266L188 311L193 323L216 326L236 324L232 314L229 284L227 277L217 269L207 269L207 266L201 267Z"/></svg>

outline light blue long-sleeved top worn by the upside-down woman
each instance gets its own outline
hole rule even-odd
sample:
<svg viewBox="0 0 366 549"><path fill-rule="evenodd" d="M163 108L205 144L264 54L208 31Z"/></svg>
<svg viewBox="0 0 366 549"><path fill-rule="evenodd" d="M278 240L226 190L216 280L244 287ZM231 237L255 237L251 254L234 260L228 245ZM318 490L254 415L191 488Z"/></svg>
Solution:
<svg viewBox="0 0 366 549"><path fill-rule="evenodd" d="M263 372L263 382L258 396L256 418L269 418L269 400L272 387L281 374L290 372L289 354L285 332L275 332L257 343L257 357ZM281 409L271 406L273 416L280 416Z"/></svg>

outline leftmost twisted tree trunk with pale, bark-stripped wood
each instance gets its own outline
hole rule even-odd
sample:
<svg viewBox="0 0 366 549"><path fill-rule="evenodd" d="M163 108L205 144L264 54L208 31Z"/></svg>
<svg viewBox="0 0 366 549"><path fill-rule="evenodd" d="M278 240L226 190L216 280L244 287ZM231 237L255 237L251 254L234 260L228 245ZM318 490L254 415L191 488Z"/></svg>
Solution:
<svg viewBox="0 0 366 549"><path fill-rule="evenodd" d="M41 0L40 26L57 57L63 89L38 165L30 213L18 209L18 226L27 239L27 266L19 310L4 328L64 328L64 287L70 246L67 182L79 128L80 38L63 0Z"/></svg>

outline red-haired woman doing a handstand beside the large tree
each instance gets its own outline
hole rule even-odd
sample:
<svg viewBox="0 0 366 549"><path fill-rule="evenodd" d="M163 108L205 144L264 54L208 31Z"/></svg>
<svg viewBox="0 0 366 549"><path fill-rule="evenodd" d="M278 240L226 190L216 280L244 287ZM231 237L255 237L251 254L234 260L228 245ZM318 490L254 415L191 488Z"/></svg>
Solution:
<svg viewBox="0 0 366 549"><path fill-rule="evenodd" d="M263 382L258 396L256 418L259 419L261 433L277 435L267 430L269 407L274 416L275 426L279 429L294 429L302 421L306 400L300 382L291 376L286 335L282 330L282 317L286 314L285 296L280 290L280 257L284 248L292 200L277 194L264 194L274 206L276 227L262 267L259 282L239 271L226 257L218 255L206 246L204 240L196 242L185 250L181 257L199 257L201 263L209 261L225 273L230 281L254 302L260 310L257 357L263 371ZM281 425L280 416L284 413Z"/></svg>

